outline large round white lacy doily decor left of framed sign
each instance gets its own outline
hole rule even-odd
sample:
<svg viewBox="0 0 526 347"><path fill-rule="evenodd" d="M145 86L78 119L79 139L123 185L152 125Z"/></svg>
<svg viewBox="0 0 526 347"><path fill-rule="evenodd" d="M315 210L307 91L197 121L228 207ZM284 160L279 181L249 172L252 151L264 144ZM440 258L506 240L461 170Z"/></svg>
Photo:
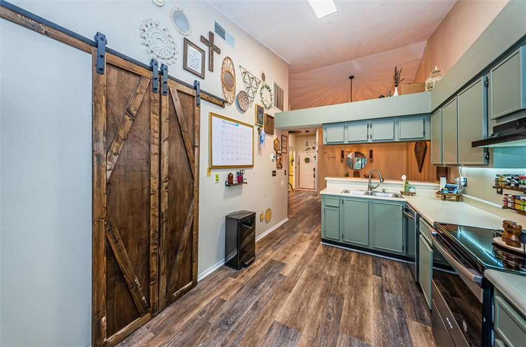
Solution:
<svg viewBox="0 0 526 347"><path fill-rule="evenodd" d="M161 64L171 65L177 59L177 44L168 29L161 28L159 21L146 19L140 25L141 43L146 46L146 53Z"/></svg>

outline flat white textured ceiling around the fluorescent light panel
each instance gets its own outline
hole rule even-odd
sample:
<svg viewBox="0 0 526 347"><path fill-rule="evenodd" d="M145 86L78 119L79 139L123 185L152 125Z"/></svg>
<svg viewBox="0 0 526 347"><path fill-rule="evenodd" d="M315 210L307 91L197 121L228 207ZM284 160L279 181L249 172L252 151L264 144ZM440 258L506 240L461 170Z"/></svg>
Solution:
<svg viewBox="0 0 526 347"><path fill-rule="evenodd" d="M304 0L208 2L296 74L424 42L456 0L336 0L339 12L321 19Z"/></svg>

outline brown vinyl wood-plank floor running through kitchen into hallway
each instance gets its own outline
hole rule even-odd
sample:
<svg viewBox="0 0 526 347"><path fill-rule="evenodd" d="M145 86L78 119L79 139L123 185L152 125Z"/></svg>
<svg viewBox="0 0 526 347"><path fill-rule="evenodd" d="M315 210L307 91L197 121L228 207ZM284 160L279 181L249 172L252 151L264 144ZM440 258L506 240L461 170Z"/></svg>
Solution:
<svg viewBox="0 0 526 347"><path fill-rule="evenodd" d="M120 345L436 346L407 264L321 244L320 198L288 199L250 267L214 271Z"/></svg>

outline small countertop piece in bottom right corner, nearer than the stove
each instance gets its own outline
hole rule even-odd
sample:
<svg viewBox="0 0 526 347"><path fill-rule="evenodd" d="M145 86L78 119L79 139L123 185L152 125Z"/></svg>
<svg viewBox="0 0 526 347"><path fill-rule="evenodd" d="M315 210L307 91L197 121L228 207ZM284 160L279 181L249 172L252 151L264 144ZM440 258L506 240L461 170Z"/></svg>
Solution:
<svg viewBox="0 0 526 347"><path fill-rule="evenodd" d="M526 276L497 270L484 271L484 277L526 316Z"/></svg>

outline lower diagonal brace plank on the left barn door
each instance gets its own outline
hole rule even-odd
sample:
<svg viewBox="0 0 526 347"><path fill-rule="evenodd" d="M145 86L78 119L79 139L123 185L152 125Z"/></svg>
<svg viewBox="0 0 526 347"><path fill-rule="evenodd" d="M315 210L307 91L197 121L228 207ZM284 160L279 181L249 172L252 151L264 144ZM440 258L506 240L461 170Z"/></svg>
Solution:
<svg viewBox="0 0 526 347"><path fill-rule="evenodd" d="M123 239L120 237L120 232L108 210L106 210L106 226L106 237L108 238L109 245L112 247L115 259L117 259L120 271L123 272L131 297L133 298L140 315L145 315L150 311L148 302L144 296L143 289L140 287L139 279L137 278L137 274L131 264L128 252L126 252Z"/></svg>

